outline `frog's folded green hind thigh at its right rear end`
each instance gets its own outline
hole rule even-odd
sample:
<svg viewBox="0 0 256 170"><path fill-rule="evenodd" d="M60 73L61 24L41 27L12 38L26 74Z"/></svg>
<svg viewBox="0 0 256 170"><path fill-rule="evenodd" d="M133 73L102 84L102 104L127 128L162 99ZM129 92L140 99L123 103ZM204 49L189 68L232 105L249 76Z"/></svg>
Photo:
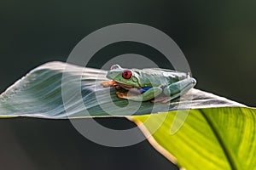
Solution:
<svg viewBox="0 0 256 170"><path fill-rule="evenodd" d="M195 83L195 78L191 77L181 80L179 82L174 82L164 88L164 94L166 94L167 96L171 96L172 99L177 98L180 95L189 91L190 88L193 88L195 86Z"/></svg>

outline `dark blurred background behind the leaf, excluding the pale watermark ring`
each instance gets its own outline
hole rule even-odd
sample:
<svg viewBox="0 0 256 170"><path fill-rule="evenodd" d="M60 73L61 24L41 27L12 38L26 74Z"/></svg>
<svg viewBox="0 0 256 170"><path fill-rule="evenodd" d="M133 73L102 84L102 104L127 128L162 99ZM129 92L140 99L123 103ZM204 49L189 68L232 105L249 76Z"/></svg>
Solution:
<svg viewBox="0 0 256 170"><path fill-rule="evenodd" d="M154 26L177 42L196 88L255 106L256 1L32 1L0 2L0 91L32 68L66 61L92 31L123 22ZM158 55L117 44L96 55ZM161 62L161 60L158 60ZM164 62L163 66L164 65ZM99 67L99 60L90 66ZM114 128L125 119L101 119ZM84 139L68 121L0 120L1 169L175 169L147 141L108 148ZM189 154L189 153L188 153Z"/></svg>

